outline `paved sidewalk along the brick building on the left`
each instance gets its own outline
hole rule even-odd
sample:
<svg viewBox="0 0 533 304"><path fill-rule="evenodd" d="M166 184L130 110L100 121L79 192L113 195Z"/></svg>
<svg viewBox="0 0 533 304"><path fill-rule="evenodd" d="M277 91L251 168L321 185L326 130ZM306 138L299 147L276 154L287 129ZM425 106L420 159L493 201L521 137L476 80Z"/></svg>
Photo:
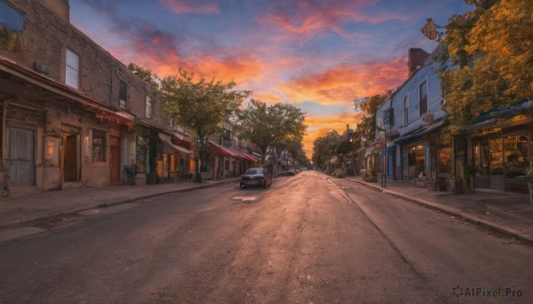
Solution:
<svg viewBox="0 0 533 304"><path fill-rule="evenodd" d="M0 230L32 226L51 221L65 214L110 207L159 195L193 191L221 183L235 183L240 177L203 183L164 183L116 185L99 188L77 188L63 191L44 191L0 199Z"/></svg>

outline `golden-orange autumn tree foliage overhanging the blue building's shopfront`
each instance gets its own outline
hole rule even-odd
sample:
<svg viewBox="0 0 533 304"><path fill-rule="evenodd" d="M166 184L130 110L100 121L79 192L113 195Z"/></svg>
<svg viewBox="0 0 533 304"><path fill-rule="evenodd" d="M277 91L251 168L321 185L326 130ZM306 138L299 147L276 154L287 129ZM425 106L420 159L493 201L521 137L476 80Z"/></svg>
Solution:
<svg viewBox="0 0 533 304"><path fill-rule="evenodd" d="M465 2L476 10L449 20L440 74L443 110L455 134L481 113L533 97L530 0Z"/></svg>

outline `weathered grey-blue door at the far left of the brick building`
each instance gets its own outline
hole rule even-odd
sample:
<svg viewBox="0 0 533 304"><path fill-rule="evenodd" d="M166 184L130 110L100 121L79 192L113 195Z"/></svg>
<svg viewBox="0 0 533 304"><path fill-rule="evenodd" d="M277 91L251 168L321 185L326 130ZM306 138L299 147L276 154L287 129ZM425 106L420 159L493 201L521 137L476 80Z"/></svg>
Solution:
<svg viewBox="0 0 533 304"><path fill-rule="evenodd" d="M35 131L33 129L8 129L7 160L12 186L35 185Z"/></svg>

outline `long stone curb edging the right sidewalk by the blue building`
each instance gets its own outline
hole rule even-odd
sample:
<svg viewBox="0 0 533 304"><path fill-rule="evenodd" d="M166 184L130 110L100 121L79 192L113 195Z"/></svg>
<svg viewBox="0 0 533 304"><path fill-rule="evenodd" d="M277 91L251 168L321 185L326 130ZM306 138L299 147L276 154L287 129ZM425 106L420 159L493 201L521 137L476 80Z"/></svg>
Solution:
<svg viewBox="0 0 533 304"><path fill-rule="evenodd" d="M509 228L509 227L506 227L504 225L500 225L500 224L498 224L496 222L491 222L491 221L485 220L485 219L483 219L483 218L481 218L479 216L476 216L476 215L473 215L473 214L468 214L468 213L465 213L463 211L457 210L456 208L445 207L445 206L442 206L442 205L440 205L438 203L434 203L432 201L428 201L428 200L425 200L425 199L413 198L413 197L410 197L409 195L406 195L406 194L403 194L403 193L400 193L400 192L397 192L397 191L391 191L391 190L386 190L386 189L383 189L383 188L379 188L379 187L374 186L372 184L363 183L362 181L358 181L356 179L346 178L346 180L347 181L352 181L352 182L355 182L355 183L360 183L360 184L362 184L364 186L369 187L370 189L372 189L374 191L379 191L379 192L394 196L395 198L398 198L398 199L405 199L405 200L408 200L408 201L413 202L415 204L418 204L420 206L429 207L431 209L440 211L440 212L442 212L444 214L449 214L449 215L456 216L457 218L463 219L466 222L471 222L471 223L473 223L473 224L475 224L475 225L477 225L479 227L482 227L482 228L484 228L486 230L495 231L495 232L504 234L504 235L506 235L508 237L516 238L516 239L519 239L519 240L521 240L523 242L527 242L529 244L533 244L533 238L530 237L529 235L526 235L525 233L522 233L520 230L515 230L513 228Z"/></svg>

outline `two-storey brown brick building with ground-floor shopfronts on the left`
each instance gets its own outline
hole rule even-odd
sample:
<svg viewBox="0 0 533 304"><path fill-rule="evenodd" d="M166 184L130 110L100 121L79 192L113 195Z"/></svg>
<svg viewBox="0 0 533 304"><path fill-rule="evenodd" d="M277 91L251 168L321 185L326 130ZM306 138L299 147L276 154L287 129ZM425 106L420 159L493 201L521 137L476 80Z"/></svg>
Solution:
<svg viewBox="0 0 533 304"><path fill-rule="evenodd" d="M10 184L102 186L119 183L130 164L144 183L166 179L179 163L188 168L191 139L166 127L156 91L72 26L68 9L68 0L0 0L0 136Z"/></svg>

